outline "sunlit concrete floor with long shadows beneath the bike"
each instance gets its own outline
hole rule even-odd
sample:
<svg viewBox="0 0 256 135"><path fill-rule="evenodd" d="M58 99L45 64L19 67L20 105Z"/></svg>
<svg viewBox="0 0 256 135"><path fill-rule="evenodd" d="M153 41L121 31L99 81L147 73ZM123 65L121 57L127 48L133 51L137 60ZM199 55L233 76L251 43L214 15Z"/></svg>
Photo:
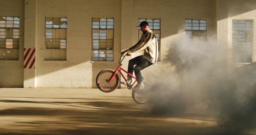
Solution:
<svg viewBox="0 0 256 135"><path fill-rule="evenodd" d="M153 114L128 89L0 88L0 135L209 135L214 118Z"/></svg>

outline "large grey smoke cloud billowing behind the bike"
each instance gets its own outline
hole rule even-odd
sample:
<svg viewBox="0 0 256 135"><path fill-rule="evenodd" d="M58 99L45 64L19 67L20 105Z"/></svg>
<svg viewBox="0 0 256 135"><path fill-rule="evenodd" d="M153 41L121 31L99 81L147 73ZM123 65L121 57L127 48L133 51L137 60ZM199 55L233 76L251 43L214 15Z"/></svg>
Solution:
<svg viewBox="0 0 256 135"><path fill-rule="evenodd" d="M214 38L176 39L152 85L152 112L207 113L223 135L256 129L256 65L236 67L228 60L227 45Z"/></svg>

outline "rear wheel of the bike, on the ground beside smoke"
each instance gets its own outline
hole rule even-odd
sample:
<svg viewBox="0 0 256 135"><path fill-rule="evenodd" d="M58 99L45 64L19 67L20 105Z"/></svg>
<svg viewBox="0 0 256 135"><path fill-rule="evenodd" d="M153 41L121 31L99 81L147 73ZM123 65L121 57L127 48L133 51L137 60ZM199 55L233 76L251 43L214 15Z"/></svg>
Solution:
<svg viewBox="0 0 256 135"><path fill-rule="evenodd" d="M144 104L149 101L151 94L150 86L144 83L144 89L132 90L132 99L138 104Z"/></svg>

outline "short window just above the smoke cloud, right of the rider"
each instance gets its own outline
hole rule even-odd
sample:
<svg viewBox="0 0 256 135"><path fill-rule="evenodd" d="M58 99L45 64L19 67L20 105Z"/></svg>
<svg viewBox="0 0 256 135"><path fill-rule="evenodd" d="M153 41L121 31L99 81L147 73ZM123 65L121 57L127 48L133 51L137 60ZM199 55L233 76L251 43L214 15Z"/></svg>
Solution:
<svg viewBox="0 0 256 135"><path fill-rule="evenodd" d="M186 36L188 38L206 37L206 20L186 19Z"/></svg>

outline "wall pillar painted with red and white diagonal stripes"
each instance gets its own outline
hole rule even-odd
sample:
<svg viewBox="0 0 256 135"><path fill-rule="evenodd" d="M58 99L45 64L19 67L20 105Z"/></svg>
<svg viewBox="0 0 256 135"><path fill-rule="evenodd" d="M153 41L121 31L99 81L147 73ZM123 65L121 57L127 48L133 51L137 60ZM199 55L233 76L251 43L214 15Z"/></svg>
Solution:
<svg viewBox="0 0 256 135"><path fill-rule="evenodd" d="M25 0L24 87L36 87L37 0Z"/></svg>

